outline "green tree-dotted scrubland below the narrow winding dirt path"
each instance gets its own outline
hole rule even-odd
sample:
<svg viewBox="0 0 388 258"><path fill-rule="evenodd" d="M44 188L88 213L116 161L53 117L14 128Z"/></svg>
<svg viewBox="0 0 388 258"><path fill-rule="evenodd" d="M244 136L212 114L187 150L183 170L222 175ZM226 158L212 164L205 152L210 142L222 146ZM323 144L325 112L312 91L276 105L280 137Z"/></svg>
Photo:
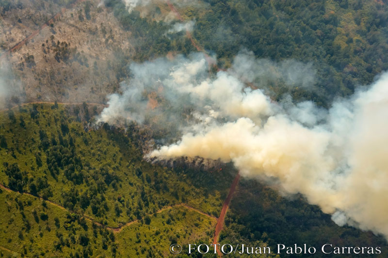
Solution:
<svg viewBox="0 0 388 258"><path fill-rule="evenodd" d="M37 197L0 190L1 257L165 257L171 243L209 243L215 219L173 207L121 231ZM7 251L9 250L9 251Z"/></svg>

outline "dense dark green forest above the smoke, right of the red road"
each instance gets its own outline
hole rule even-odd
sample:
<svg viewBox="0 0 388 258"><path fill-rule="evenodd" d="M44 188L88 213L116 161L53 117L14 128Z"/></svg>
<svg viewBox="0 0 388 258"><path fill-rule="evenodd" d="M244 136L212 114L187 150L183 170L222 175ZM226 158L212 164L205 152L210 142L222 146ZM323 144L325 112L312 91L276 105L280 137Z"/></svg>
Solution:
<svg viewBox="0 0 388 258"><path fill-rule="evenodd" d="M295 98L330 103L334 96L349 95L357 85L369 84L388 69L386 4L363 0L209 3L211 11L197 17L194 36L218 57L230 59L245 47L259 58L314 63L321 95L295 90ZM223 35L216 41L211 37L220 26L229 30L230 41L223 40Z"/></svg>

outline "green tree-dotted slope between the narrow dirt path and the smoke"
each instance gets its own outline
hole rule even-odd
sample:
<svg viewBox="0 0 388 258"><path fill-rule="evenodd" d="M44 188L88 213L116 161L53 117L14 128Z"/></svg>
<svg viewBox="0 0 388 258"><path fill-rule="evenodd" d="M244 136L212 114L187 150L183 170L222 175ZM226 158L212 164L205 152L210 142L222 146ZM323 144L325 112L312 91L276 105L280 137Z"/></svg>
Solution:
<svg viewBox="0 0 388 258"><path fill-rule="evenodd" d="M221 193L212 186L199 186L202 181L214 182L214 175L200 180L204 173L193 176L188 170L171 171L146 163L139 147L119 130L104 125L85 132L68 112L63 106L34 104L2 117L2 141L7 145L0 158L4 185L48 198L112 227L182 199L218 214ZM20 118L24 126L17 122ZM198 179L199 183L190 182ZM224 191L227 184L223 183Z"/></svg>

